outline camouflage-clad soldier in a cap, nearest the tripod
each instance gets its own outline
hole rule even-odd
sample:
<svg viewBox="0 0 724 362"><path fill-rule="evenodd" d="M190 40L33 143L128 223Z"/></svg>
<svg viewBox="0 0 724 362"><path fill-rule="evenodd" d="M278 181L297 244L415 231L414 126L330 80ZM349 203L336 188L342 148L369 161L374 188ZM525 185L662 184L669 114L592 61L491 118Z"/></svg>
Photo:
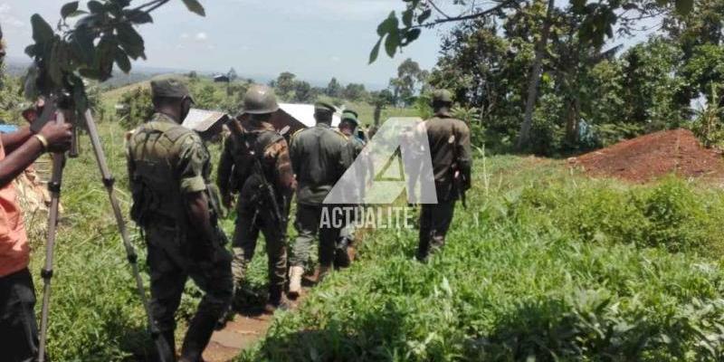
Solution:
<svg viewBox="0 0 724 362"><path fill-rule="evenodd" d="M194 100L175 80L152 81L156 113L127 136L131 218L148 246L151 314L176 360L174 314L190 277L204 291L191 320L181 361L201 361L217 320L232 300L231 254L210 204L209 153L201 138L180 126Z"/></svg>

